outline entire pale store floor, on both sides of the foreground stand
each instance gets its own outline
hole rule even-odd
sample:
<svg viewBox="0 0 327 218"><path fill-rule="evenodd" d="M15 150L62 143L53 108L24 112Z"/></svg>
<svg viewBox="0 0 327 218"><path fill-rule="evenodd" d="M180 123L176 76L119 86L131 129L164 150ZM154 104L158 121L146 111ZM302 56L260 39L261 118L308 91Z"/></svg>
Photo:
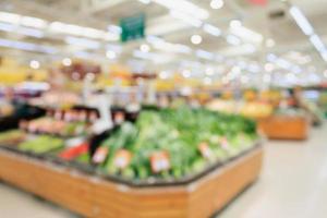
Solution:
<svg viewBox="0 0 327 218"><path fill-rule="evenodd" d="M228 189L228 187L227 187ZM268 142L259 180L219 218L325 218L327 215L327 124L306 142ZM1 218L77 216L0 184Z"/></svg>

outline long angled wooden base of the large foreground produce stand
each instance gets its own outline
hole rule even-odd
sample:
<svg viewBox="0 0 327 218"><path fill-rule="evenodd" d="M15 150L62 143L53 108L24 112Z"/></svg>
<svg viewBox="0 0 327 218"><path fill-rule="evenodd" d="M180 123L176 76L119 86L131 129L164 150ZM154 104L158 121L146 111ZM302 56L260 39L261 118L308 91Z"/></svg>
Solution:
<svg viewBox="0 0 327 218"><path fill-rule="evenodd" d="M263 147L187 185L133 187L0 150L0 179L85 217L209 217L253 183Z"/></svg>

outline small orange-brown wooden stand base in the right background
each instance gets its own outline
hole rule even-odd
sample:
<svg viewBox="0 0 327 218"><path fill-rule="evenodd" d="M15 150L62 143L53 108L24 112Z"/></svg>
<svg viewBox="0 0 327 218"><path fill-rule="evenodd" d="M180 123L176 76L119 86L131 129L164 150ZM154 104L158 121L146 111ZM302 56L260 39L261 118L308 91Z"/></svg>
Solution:
<svg viewBox="0 0 327 218"><path fill-rule="evenodd" d="M310 120L303 116L275 114L258 121L258 129L271 140L306 140Z"/></svg>

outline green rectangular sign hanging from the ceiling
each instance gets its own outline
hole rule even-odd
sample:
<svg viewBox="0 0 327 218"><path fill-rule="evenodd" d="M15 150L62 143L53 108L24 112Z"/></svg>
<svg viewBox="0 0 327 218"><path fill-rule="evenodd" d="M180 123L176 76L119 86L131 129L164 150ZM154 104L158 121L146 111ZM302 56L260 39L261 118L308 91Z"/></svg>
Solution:
<svg viewBox="0 0 327 218"><path fill-rule="evenodd" d="M120 20L121 41L125 43L145 36L145 14L123 17Z"/></svg>

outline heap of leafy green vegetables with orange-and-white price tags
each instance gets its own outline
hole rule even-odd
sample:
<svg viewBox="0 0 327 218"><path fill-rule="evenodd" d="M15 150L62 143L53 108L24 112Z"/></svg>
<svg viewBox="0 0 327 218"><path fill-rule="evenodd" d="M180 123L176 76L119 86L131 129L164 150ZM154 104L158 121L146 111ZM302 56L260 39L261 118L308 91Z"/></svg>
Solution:
<svg viewBox="0 0 327 218"><path fill-rule="evenodd" d="M206 109L144 110L97 148L92 161L105 173L142 181L183 179L252 147L254 121Z"/></svg>

